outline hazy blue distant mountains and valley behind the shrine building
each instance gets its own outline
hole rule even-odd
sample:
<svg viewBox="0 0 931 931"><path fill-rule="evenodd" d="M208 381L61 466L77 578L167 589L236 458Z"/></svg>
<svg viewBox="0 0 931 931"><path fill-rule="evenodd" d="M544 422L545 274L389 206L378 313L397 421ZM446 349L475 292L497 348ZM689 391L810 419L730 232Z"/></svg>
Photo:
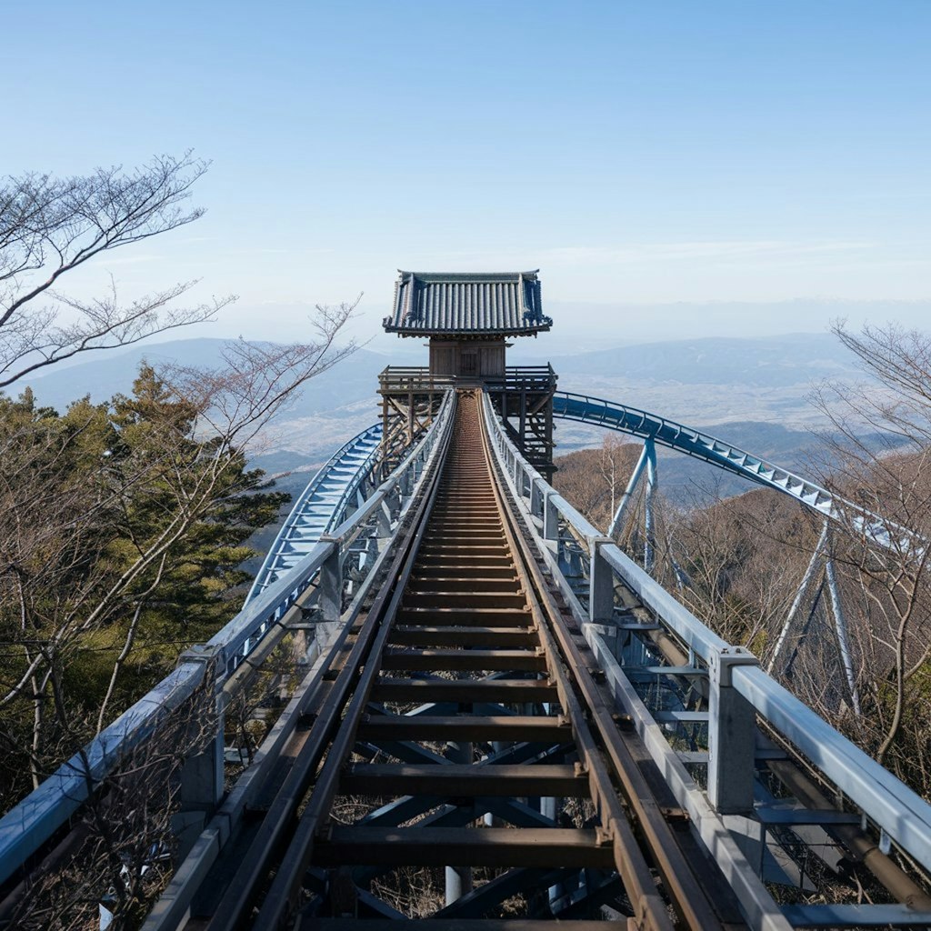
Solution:
<svg viewBox="0 0 931 931"><path fill-rule="evenodd" d="M68 368L37 372L29 384L39 403L64 409L75 398L94 401L128 393L143 359L158 366L216 365L223 340L176 340L89 355ZM853 357L829 334L789 334L762 339L711 337L666 343L620 345L595 352L547 357L559 341L544 335L510 350L511 364L550 361L560 388L621 401L698 426L763 455L781 466L804 471L815 445L810 430L824 425L808 396L825 379L859 377ZM301 398L266 436L254 461L269 473L298 473L283 480L294 492L346 439L379 418L378 373L391 362L425 364L420 344L399 344L395 357L359 349L340 365L311 380ZM19 385L18 385L19 387ZM561 422L557 453L600 443L597 427ZM692 486L702 466L670 454L663 466L668 492ZM697 473L695 473L697 468ZM720 473L715 473L715 478ZM726 492L738 491L731 479ZM681 495L676 492L675 497Z"/></svg>

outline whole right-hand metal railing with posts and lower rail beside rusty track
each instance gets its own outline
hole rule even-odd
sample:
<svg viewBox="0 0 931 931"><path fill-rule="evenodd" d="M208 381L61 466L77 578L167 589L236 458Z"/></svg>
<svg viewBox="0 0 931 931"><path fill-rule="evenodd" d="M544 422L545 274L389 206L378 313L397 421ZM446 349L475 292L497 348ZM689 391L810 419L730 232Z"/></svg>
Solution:
<svg viewBox="0 0 931 931"><path fill-rule="evenodd" d="M844 922L850 924L875 924L892 917L904 924L931 922L931 912L911 911L904 905L793 906L773 911L771 897L748 874L746 858L735 848L721 817L737 811L754 813L758 717L817 770L843 797L845 807L856 808L854 820L861 820L864 830L871 830L874 837L878 835L881 850L896 843L925 870L931 868L931 805L767 675L753 654L722 640L570 505L523 459L487 396L484 415L507 484L612 683L615 697L631 713L708 849L719 862L726 861L751 926L775 929L813 920L824 924L842 913ZM645 425L643 429L651 431ZM830 500L822 501L822 506L830 508ZM630 605L620 598L622 589L645 612L632 614ZM643 619L645 613L649 620ZM621 628L628 634L636 631L644 642L660 634L678 643L681 653L688 655L681 674L704 681L707 711L654 717L618 662L616 648L608 642ZM668 728L676 726L677 720L707 727L707 751L685 754L707 764L707 790L698 788L692 772L670 747ZM765 843L765 830L762 838ZM819 908L823 913L817 912ZM870 913L870 908L885 911Z"/></svg>

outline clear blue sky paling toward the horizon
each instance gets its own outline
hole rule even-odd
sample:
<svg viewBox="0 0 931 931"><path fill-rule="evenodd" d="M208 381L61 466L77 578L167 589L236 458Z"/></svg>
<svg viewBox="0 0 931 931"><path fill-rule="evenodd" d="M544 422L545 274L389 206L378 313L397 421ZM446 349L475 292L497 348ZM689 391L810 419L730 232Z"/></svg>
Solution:
<svg viewBox="0 0 931 931"><path fill-rule="evenodd" d="M238 293L205 335L377 329L398 266L539 267L567 335L931 314L928 0L2 9L4 173L212 160L80 283Z"/></svg>

